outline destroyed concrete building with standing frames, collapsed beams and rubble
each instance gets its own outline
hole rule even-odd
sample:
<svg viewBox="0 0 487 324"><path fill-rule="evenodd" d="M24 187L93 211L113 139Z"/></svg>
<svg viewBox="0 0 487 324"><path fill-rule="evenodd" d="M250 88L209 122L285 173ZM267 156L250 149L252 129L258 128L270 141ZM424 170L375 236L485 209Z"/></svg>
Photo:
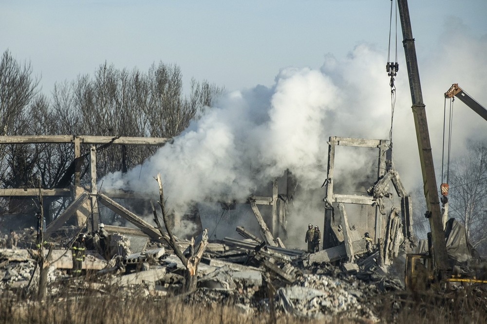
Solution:
<svg viewBox="0 0 487 324"><path fill-rule="evenodd" d="M275 303L283 312L311 318L347 313L374 319L373 311L364 306L367 295L402 289L400 279L387 275L387 266L398 257L400 249L404 252L413 245L412 206L393 168L388 155L389 142L386 140L330 138L328 172L322 201L323 243L321 251L312 254L285 246L288 232L296 230L287 226L288 218L294 216L290 207L297 188L297 180L289 171L285 173L287 179L284 181L275 179L271 182L269 196L251 195L245 201L219 203L224 212L235 209L236 205L248 206L258 224L258 231L236 226L235 233L240 235L240 239L227 236L212 241L211 237L204 238L200 234L192 241L176 237L175 245L172 246L168 234L160 231L162 228L136 215L127 207L129 205L124 206L123 198L135 198L136 193L100 192L96 182L95 144L161 145L166 142L165 139L73 137L66 141L72 142L75 147L91 145L88 163L92 179L90 186L80 185L78 170L84 161L80 150L75 149L75 182L71 188L19 188L4 189L2 192L3 197L17 195L38 198L37 193L40 192L40 197L46 200L53 196L71 199L69 206L46 224L45 241L50 242L52 249L45 246L43 254L48 255L48 250L52 250L49 261L46 261L51 294L59 293L60 288L56 287L60 286L56 286L56 283L66 280L70 275L72 260L68 251L77 233L89 234L98 228L101 206L116 213L131 227L105 224L105 229L110 233L108 248L100 251L97 247L99 243L89 241L91 249L87 251L83 262L83 273L93 273L95 278L103 278L106 284L120 288L139 286L149 295L158 296L177 293L184 286L187 265L176 255L178 253L175 250L180 250L184 257L205 239L204 252L195 271L197 287L203 289L199 291L204 291L204 294L197 297L201 292L196 292L191 297L195 300L218 301L228 293L238 293L245 296L246 305L242 304L241 307L247 309L258 305L256 298L261 294L260 291L272 285L278 289ZM367 185L366 195L344 195L334 191L337 145L378 150L378 173ZM388 210L384 200L390 199L392 188L400 204ZM350 204L360 206L359 210L363 213L357 214L354 219L363 221L350 220L347 214ZM201 233L202 223L198 215L198 211L193 210L187 217L196 223ZM26 228L18 232L20 239L17 249L0 250L1 287L32 290L38 285L33 279L38 271L34 270L37 262L36 253L33 252L35 231ZM370 233L372 246L367 246L365 232ZM103 253L106 251L109 252ZM366 288L368 292L360 292L360 287Z"/></svg>

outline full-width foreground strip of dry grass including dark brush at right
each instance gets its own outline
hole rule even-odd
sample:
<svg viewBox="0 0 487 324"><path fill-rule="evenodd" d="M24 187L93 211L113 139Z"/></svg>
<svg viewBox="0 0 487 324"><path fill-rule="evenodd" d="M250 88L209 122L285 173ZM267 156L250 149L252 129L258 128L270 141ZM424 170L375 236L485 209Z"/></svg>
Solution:
<svg viewBox="0 0 487 324"><path fill-rule="evenodd" d="M372 324L367 319L344 317L327 320L300 319L274 311L244 313L226 302L191 303L187 296L153 297L142 291L113 287L100 293L67 283L57 294L44 302L28 296L5 292L0 296L0 324ZM85 288L83 288L85 287ZM378 296L375 313L380 323L487 323L487 294L480 290L449 293L407 293L399 291ZM369 305L370 306L370 305Z"/></svg>

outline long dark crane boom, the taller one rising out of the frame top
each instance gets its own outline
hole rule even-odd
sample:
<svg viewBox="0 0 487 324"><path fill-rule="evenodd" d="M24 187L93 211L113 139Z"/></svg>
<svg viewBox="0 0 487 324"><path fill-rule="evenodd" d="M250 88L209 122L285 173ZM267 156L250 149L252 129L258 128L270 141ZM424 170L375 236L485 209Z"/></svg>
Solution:
<svg viewBox="0 0 487 324"><path fill-rule="evenodd" d="M412 112L414 124L416 126L416 137L418 141L419 158L421 161L421 171L423 174L424 194L428 211L425 216L429 218L432 243L433 260L439 275L449 270L448 254L445 243L445 232L443 229L440 201L438 198L438 188L434 174L433 156L431 153L430 133L426 119L426 109L423 103L421 83L419 81L419 69L416 57L414 38L412 37L411 18L407 0L397 0L399 16L403 34L404 52L406 55L406 66L409 76L409 85L412 97Z"/></svg>

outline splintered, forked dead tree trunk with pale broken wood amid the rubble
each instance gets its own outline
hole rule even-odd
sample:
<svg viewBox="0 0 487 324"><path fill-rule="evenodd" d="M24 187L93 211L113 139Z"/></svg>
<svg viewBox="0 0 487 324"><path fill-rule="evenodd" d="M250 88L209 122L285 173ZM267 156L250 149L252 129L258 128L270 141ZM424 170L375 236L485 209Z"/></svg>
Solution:
<svg viewBox="0 0 487 324"><path fill-rule="evenodd" d="M164 191L162 188L162 181L161 181L161 175L157 175L157 183L159 184L159 205L161 206L161 211L162 211L162 219L164 221L164 226L166 227L166 230L168 231L169 234L169 245L171 248L174 250L174 253L178 256L178 258L181 260L183 265L186 267L186 272L185 272L185 284L183 288L183 292L192 292L196 290L196 285L198 283L198 265L201 261L201 258L203 257L203 253L205 252L206 246L208 245L208 229L203 230L203 235L201 238L201 241L199 244L197 244L197 247L195 249L195 240L194 237L191 238L191 242L189 243L189 253L187 254L187 257L181 252L179 249L178 245L176 244L176 240L174 238L174 235L172 234L172 228L169 226L169 218L166 213L166 207L164 204ZM159 221L159 218L157 216L157 212L155 210L154 204L152 201L150 201L152 205L152 213L154 214L154 221L157 224L157 228L161 232L161 235L165 236L163 233L163 229L161 226L161 223Z"/></svg>

